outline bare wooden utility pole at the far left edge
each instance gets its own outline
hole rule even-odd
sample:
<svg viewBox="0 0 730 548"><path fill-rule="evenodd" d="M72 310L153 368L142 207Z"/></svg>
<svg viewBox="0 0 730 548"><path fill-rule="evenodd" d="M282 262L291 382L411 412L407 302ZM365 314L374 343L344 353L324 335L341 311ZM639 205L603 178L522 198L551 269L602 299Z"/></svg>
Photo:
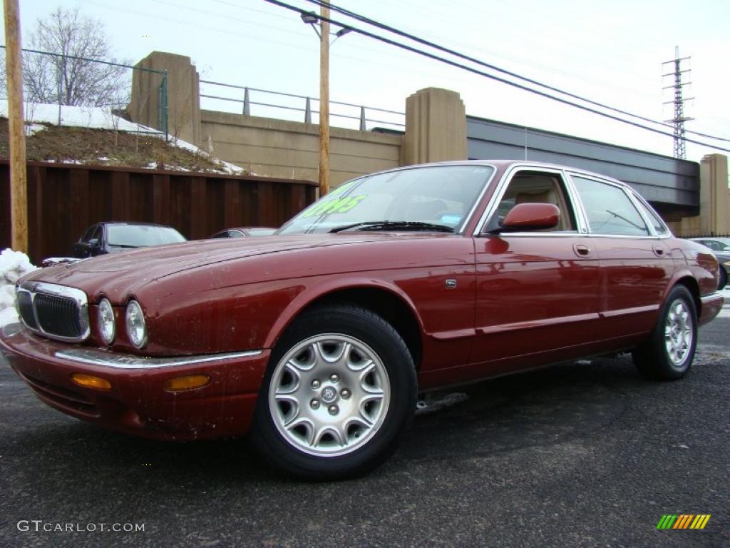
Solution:
<svg viewBox="0 0 730 548"><path fill-rule="evenodd" d="M4 0L7 117L10 152L10 246L28 253L26 131L23 122L23 57L20 51L18 0Z"/></svg>

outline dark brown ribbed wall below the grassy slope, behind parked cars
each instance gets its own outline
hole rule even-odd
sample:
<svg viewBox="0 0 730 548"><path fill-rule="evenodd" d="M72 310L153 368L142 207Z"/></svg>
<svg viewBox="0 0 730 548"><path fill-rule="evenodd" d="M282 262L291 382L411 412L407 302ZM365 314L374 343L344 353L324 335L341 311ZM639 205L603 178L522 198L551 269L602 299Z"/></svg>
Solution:
<svg viewBox="0 0 730 548"><path fill-rule="evenodd" d="M67 256L90 224L168 224L196 240L228 227L279 227L317 183L253 175L28 162L28 255ZM0 249L10 245L9 166L0 160Z"/></svg>

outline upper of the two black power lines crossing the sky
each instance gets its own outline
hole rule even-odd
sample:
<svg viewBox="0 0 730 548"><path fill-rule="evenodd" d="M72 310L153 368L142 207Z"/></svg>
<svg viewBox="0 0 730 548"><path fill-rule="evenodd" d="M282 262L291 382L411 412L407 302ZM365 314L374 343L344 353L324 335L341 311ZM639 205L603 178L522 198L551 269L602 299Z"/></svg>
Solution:
<svg viewBox="0 0 730 548"><path fill-rule="evenodd" d="M494 70L496 72L499 72L501 74L518 78L519 80L522 80L523 82L528 82L528 83L531 83L531 84L534 84L534 85L539 85L540 87L545 88L545 89L549 89L550 91L556 91L559 94L563 94L565 96L572 97L573 99L579 99L580 101L586 102L588 104L596 105L596 107L602 107L602 108L604 108L606 110L611 110L611 111L613 111L615 113L620 113L620 114L623 114L623 115L626 115L626 116L631 116L631 118L637 118L638 120L642 120L642 121L650 122L650 123L656 123L656 124L658 124L660 126L667 127L667 124L664 123L664 122L662 122L662 121L653 120L651 118L646 118L645 116L642 116L642 115L630 113L630 112L628 112L626 110L621 110L621 109L616 108L616 107L611 107L608 104L604 104L604 103L601 103L601 102L593 101L592 99L588 99L586 97L583 97L583 96L580 96L580 95L577 95L577 94L572 94L569 91L564 91L561 88L556 88L553 85L549 85L549 84L546 84L546 83L542 83L542 82L539 82L538 80L533 80L532 78L519 75L518 73L509 71L507 69L502 69L501 67L496 66L494 64L486 63L485 61L481 61L480 59L477 59L477 58L474 58L474 57L471 57L471 56L464 55L464 53L459 53L456 50L452 50L452 49L450 49L448 47L444 47L444 46L438 45L438 44L436 44L434 42L431 42L429 40L426 40L426 39L417 37L414 34L410 34L410 33L407 33L405 31L401 31L398 28L394 28L392 26L386 25L385 23L380 23L379 21L376 21L374 19L367 18L364 15L359 15L358 13L352 12L349 9L337 7L334 4L331 4L331 3L327 2L327 1L323 1L323 0L306 0L306 1L310 2L310 4L315 4L315 5L318 5L318 6L323 6L324 5L324 6L330 7L330 9L332 9L333 11L338 12L338 13L341 13L342 15L345 15L347 17L350 17L350 18L359 20L362 23L367 23L369 25L372 25L372 26L375 26L377 28L380 28L380 29L382 29L384 31L392 32L393 34L397 34L398 36L411 39L414 42L418 42L419 44L423 44L423 45L427 45L429 47L433 47L435 50L439 50L439 51L442 51L444 53L448 53L448 54L450 54L452 56L455 56L455 57L464 59L465 61L471 61L472 63L478 64L480 66L485 66L486 68L492 69L492 70ZM699 135L701 137L708 137L708 138L713 139L713 140L730 142L730 139L727 139L725 137L718 137L716 135L710 135L710 134L705 134L705 133L700 133L700 132L693 132L693 131L691 131L689 129L685 129L684 131L686 133L691 133L691 134Z"/></svg>

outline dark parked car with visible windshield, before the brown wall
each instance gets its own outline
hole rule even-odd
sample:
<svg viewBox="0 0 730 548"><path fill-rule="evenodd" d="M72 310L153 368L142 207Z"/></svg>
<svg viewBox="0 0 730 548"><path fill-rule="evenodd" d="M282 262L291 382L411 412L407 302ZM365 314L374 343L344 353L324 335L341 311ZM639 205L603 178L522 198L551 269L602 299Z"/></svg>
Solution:
<svg viewBox="0 0 730 548"><path fill-rule="evenodd" d="M88 227L71 248L71 256L84 259L134 248L164 246L185 242L185 236L172 227L152 223L96 223Z"/></svg>

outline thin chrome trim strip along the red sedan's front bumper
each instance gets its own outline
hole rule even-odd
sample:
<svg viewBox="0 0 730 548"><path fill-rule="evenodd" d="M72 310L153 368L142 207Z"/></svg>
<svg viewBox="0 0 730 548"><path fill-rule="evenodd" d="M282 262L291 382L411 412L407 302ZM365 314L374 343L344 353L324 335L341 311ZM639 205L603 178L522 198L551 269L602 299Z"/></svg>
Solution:
<svg viewBox="0 0 730 548"><path fill-rule="evenodd" d="M155 369L173 368L180 365L193 365L197 363L219 362L225 359L255 357L260 356L263 352L263 350L250 350L245 352L226 352L225 354L203 354L197 356L155 358L95 349L71 349L56 351L54 356L60 359L68 359L71 362L99 365L107 368Z"/></svg>

